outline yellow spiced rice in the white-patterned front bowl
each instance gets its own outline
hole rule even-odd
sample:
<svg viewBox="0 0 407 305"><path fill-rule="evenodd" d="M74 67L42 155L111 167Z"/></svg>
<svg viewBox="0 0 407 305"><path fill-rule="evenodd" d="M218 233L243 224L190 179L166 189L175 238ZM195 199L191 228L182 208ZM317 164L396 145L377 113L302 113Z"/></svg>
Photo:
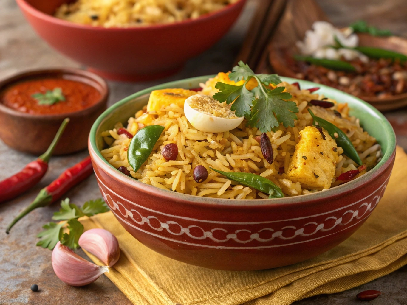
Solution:
<svg viewBox="0 0 407 305"><path fill-rule="evenodd" d="M228 78L228 74L219 73L205 84L201 83L202 90L197 93L212 96L218 91L215 89L218 81L234 84ZM325 96L311 94L308 90L300 90L295 85L285 82L278 86L284 86L285 90L292 95L291 100L297 104L299 111L296 113L298 120L294 121L294 127L286 128L280 124L276 132L267 132L275 156L271 164L263 158L259 144L261 132L257 128L247 127L246 120L243 120L236 129L224 133L203 132L195 129L186 119L184 109L175 104L150 113L147 113L147 107L144 107L134 117L129 118L126 128L133 135L146 125L164 126L164 133L155 144L153 152L137 172L133 171L127 161L127 149L131 139L117 133L119 128L123 128L121 123L117 123L114 129L102 133L109 148L103 149L101 154L115 168L125 166L131 176L142 183L195 196L229 199L268 198L268 194L226 179L221 174L210 170L210 167L225 172L259 174L280 187L285 196L324 191L325 189L304 188L300 182L293 182L287 176L295 146L300 141L300 131L305 126L312 126L312 117L307 111L310 108L318 117L339 127L352 141L363 164L367 167L358 176L365 174L380 161L380 145L374 137L363 131L358 118L349 115L349 107L346 103L338 104L328 98L327 101L335 103L335 106L330 109L309 106L309 101L321 100ZM341 118L335 115L334 110L341 114ZM174 161L167 161L160 153L169 143L175 143L178 146L179 154ZM338 152L335 177L330 187L343 183L337 180L341 173L356 170L358 167L357 163L344 155L341 147L338 147ZM208 178L201 183L193 179L193 169L197 165L204 166L209 173Z"/></svg>

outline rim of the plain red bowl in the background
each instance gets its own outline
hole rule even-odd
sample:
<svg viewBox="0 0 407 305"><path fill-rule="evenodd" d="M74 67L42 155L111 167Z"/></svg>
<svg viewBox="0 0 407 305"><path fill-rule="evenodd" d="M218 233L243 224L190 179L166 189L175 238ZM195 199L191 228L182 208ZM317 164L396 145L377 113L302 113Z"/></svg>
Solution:
<svg viewBox="0 0 407 305"><path fill-rule="evenodd" d="M188 24L194 24L197 22L201 22L201 20L210 20L216 17L221 17L222 15L227 14L229 11L234 9L234 7L240 5L242 2L246 2L247 0L237 0L235 3L228 4L226 7L219 9L217 11L211 12L211 13L206 13L204 15L199 16L196 19L191 19L188 18L186 20L178 21L178 22L173 22L173 23L166 23L166 24L153 24L149 26L132 26L132 27L111 27L111 28L105 28L103 26L91 26L88 24L79 24L79 23L74 23L74 22L69 22L63 19L59 19L57 17L54 17L53 15L48 15L35 7L33 7L31 4L26 2L26 0L16 0L18 5L22 7L25 11L30 13L31 15L34 15L35 17L42 19L46 22L51 22L55 23L61 26L70 26L73 28L82 28L85 30L104 30L104 31L145 31L145 30L160 30L162 28L172 28L172 27L177 27L177 26L182 26L182 25L188 25Z"/></svg>

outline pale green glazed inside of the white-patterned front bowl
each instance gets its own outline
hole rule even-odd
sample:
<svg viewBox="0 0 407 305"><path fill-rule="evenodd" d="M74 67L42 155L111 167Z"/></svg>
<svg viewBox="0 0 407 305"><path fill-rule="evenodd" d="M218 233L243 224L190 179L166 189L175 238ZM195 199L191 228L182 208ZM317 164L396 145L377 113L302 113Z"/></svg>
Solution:
<svg viewBox="0 0 407 305"><path fill-rule="evenodd" d="M90 145L95 150L97 156L101 158L104 163L113 168L113 166L111 166L109 162L107 162L100 154L100 150L106 148L105 143L103 141L103 137L101 136L101 133L103 131L112 129L114 127L114 124L116 124L117 122L122 122L126 126L127 120L131 116L134 116L136 111L142 109L142 107L147 104L149 94L151 91L165 88L184 88L184 89L197 88L199 87L199 83L204 83L210 77L214 77L214 75L199 76L164 83L161 85L144 89L142 91L139 91L135 94L128 96L127 98L124 98L123 100L120 100L113 106L109 107L109 109L102 113L101 116L94 122L92 129L90 131ZM302 81L289 77L281 77L281 80L286 81L288 83L298 82L300 83L302 89L320 87L317 93L324 94L329 98L333 98L337 100L337 102L339 103L348 103L348 105L350 106L350 114L355 115L357 118L359 118L360 125L363 127L363 129L365 131L368 131L370 135L375 137L377 139L377 142L381 145L383 155L381 161L367 174L351 181L350 183L345 183L344 185L333 187L329 190L326 190L325 192L317 192L308 195L294 196L288 198L255 199L255 200L230 200L230 199L214 200L214 198L210 198L211 200L206 200L203 197L196 198L196 196L186 194L177 194L177 196L179 195L183 199L188 198L187 200L190 200L191 202L222 203L235 205L238 204L236 203L236 201L245 201L245 204L256 205L259 204L260 201L263 201L263 203L271 202L277 203L277 201L278 203L295 203L302 201L301 198L304 197L306 197L307 200L309 200L311 199L311 196L315 199L319 199L335 195L335 193L339 194L341 192L345 192L356 187L357 185L360 185L361 183L365 183L391 157L392 153L396 148L396 136L394 134L392 126L384 117L384 115L380 113L377 109L375 109L373 106L369 105L367 102L364 102L359 98L356 98L355 96L352 96L350 94L347 94L345 92L339 91L337 89L325 85L320 85L309 81ZM127 177L126 179L133 181L133 183L141 183L130 177ZM251 203L249 201L251 201Z"/></svg>

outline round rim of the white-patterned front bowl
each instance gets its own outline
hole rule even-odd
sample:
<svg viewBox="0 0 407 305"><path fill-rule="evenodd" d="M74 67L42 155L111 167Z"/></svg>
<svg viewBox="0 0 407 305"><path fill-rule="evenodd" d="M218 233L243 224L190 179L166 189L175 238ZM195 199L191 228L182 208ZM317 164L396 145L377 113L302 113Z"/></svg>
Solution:
<svg viewBox="0 0 407 305"><path fill-rule="evenodd" d="M103 122L103 120L110 115L111 113L117 111L116 109L120 108L122 105L124 105L127 102L130 102L131 100L134 100L135 98L138 98L140 96L144 96L146 94L149 94L153 90L157 89L163 89L163 88L173 88L173 87L182 87L182 84L195 84L195 83L201 83L207 80L209 77L214 77L214 75L207 75L207 76L199 76L199 77L194 77L194 78L187 78L179 81L173 81L169 83L164 83L161 85L157 85L154 87L150 87L144 90L141 90L135 94L132 94L131 96L128 96L127 98L124 98L123 100L120 100L116 104L112 105L110 108L108 108L105 112L103 112L99 118L94 122L92 129L89 134L89 141L88 141L88 147L89 147L89 152L90 155L94 161L94 163L101 168L101 171L105 172L107 175L114 177L117 181L120 181L123 185L127 187L131 187L133 189L139 190L140 192L144 192L146 194L149 194L152 197L160 197L162 199L168 199L168 200L179 200L188 204L195 204L195 205L210 205L210 206L236 206L236 207L245 207L245 206L251 206L251 207L265 207L268 205L292 205L292 204L302 204L302 203L311 203L311 202L318 202L321 200L327 200L328 198L332 198L335 196L340 196L341 194L347 193L347 192L355 192L357 189L360 187L363 187L367 185L370 181L373 181L376 177L380 176L386 168L390 166L392 163L392 160L394 159L394 155L396 153L396 135L394 134L393 128L390 125L390 123L387 121L387 119L384 117L383 114L381 114L376 108L374 108L372 105L368 104L367 102L364 102L363 100L352 96L350 94L347 94L345 92L342 92L338 89L328 87L326 85L320 85L316 83L312 83L309 81L303 81L303 80L298 80L295 78L289 78L289 77L281 77L282 81L287 81L288 83L293 83L295 81L298 81L301 85L301 87L304 88L312 88L318 85L323 91L322 93L324 94L331 94L332 96L334 94L341 95L342 97L346 97L349 99L354 100L357 104L363 105L364 110L366 111L366 115L370 117L376 117L379 118L383 122L383 130L384 133L388 139L388 147L383 155L382 159L379 161L379 163L372 168L369 172L366 174L360 176L357 179L354 179L352 181L349 181L348 183L344 183L343 185L339 185L333 188L330 188L326 191L322 192L317 192L317 193L311 193L311 194L306 194L306 195L300 195L300 196L293 196L293 197L285 197L285 198L273 198L273 199L253 199L253 200L233 200L233 199L223 199L223 198L210 198L210 197L199 197L199 196L192 196L188 194L181 194L177 192L172 192L172 191L167 191L167 190L162 190L158 187L154 187L152 185L148 185L142 182L137 181L136 179L133 179L129 176L126 176L125 174L119 172L113 166L111 166L101 155L101 153L98 151L98 148L96 146L96 131L98 130L99 125ZM191 87L193 88L193 86ZM97 176L96 176L97 179ZM101 181L99 181L102 183ZM118 194L117 194L118 195ZM120 195L118 195L120 196Z"/></svg>

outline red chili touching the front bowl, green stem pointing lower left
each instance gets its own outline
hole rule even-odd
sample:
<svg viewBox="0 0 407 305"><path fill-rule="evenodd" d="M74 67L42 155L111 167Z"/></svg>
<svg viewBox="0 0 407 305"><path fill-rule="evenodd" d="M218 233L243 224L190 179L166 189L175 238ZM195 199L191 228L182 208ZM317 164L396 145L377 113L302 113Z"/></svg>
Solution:
<svg viewBox="0 0 407 305"><path fill-rule="evenodd" d="M90 157L86 157L81 162L65 170L57 179L51 182L50 185L39 191L39 194L34 201L9 224L6 233L8 234L11 227L33 209L36 209L37 207L46 207L47 205L54 203L74 185L77 185L79 182L88 178L92 172L93 168Z"/></svg>

